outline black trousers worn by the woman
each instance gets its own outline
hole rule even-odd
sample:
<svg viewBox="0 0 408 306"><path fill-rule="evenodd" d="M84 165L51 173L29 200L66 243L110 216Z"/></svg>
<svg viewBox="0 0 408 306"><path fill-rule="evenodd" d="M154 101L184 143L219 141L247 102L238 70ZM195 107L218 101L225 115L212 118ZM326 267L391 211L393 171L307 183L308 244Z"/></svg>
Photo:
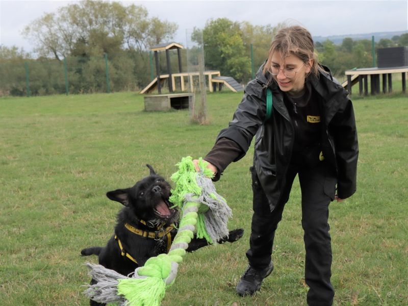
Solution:
<svg viewBox="0 0 408 306"><path fill-rule="evenodd" d="M258 176L252 172L253 216L250 248L246 252L249 264L264 268L271 261L273 239L277 224L282 219L285 203L289 199L293 180L298 174L302 194L302 227L306 251L304 278L309 286L307 302L310 306L333 304L334 289L330 283L331 244L328 225L328 206L336 191L335 170L325 161L310 168L292 164L283 189L284 200L271 212Z"/></svg>

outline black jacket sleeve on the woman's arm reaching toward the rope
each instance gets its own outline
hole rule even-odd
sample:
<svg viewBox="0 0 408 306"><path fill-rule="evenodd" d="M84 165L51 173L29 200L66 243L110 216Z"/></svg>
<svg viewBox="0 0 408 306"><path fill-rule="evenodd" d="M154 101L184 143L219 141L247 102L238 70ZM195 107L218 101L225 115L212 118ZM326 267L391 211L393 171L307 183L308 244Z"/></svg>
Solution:
<svg viewBox="0 0 408 306"><path fill-rule="evenodd" d="M221 130L217 137L235 141L241 148L241 154L234 160L240 160L248 151L253 136L257 133L266 116L266 97L262 84L252 80L245 88L244 96L234 113L227 129Z"/></svg>

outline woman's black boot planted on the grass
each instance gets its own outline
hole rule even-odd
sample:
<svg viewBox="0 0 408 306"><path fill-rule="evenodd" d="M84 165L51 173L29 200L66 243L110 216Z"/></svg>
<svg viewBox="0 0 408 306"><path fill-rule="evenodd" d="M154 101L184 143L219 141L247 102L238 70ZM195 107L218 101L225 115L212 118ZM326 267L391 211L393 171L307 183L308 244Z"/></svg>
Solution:
<svg viewBox="0 0 408 306"><path fill-rule="evenodd" d="M255 269L251 265L246 268L237 285L237 293L240 296L252 295L261 289L262 281L266 276L271 274L273 270L272 262L264 269Z"/></svg>

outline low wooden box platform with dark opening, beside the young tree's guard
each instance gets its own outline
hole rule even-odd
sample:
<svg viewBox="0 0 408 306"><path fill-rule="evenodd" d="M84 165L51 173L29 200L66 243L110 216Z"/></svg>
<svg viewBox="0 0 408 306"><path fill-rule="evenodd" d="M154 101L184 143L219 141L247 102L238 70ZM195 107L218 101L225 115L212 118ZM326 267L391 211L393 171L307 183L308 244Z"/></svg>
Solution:
<svg viewBox="0 0 408 306"><path fill-rule="evenodd" d="M151 111L169 111L173 109L188 109L191 103L194 102L194 94L192 93L172 93L172 94L157 94L146 95L144 97L144 110Z"/></svg>

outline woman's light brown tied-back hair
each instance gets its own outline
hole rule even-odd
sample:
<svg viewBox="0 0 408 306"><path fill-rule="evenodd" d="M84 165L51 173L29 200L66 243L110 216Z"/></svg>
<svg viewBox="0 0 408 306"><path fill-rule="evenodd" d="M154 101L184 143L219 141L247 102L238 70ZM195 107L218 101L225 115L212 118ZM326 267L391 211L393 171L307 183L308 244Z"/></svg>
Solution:
<svg viewBox="0 0 408 306"><path fill-rule="evenodd" d="M283 28L277 32L269 49L268 60L263 69L264 74L267 71L271 72L272 55L275 52L280 52L283 58L293 54L307 65L309 65L308 61L313 59L310 74L316 77L319 75L319 70L322 70L314 53L312 35L308 30L299 25Z"/></svg>

